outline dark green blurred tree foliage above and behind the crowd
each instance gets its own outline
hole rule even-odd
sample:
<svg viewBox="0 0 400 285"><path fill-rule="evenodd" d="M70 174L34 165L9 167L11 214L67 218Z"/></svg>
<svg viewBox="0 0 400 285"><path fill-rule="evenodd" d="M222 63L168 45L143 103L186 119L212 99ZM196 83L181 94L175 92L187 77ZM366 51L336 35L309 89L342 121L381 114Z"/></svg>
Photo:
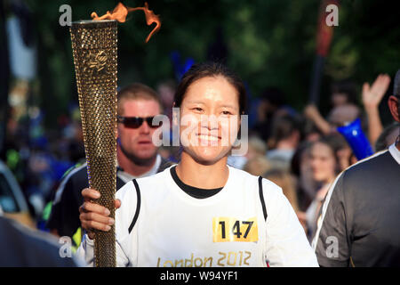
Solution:
<svg viewBox="0 0 400 285"><path fill-rule="evenodd" d="M90 19L93 11L99 15L111 11L117 2L26 0L36 16L37 100L47 110L49 124L66 112L68 102L77 101L69 31L59 24L60 5L72 7L72 20L84 20ZM143 6L144 1L123 3L135 7ZM206 60L220 28L228 49L228 66L244 78L252 96L272 85L284 90L288 103L298 110L308 101L320 0L149 0L148 4L160 15L162 27L145 44L152 27L146 25L143 12L132 12L119 24L119 85L140 81L156 87L160 81L173 78L172 51L179 51L183 58ZM324 69L323 110L329 104L332 81L351 78L361 87L381 72L394 77L400 67L397 11L388 1L340 1L339 27L334 28ZM386 102L382 104L386 106Z"/></svg>

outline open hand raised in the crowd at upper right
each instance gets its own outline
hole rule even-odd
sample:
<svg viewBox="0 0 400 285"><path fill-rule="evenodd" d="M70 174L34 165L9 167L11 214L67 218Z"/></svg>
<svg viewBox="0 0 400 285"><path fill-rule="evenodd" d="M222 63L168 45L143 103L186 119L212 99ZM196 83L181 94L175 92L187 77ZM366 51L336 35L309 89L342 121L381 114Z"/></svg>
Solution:
<svg viewBox="0 0 400 285"><path fill-rule="evenodd" d="M380 74L370 86L368 82L363 85L363 104L366 111L378 108L380 101L388 91L390 77Z"/></svg>

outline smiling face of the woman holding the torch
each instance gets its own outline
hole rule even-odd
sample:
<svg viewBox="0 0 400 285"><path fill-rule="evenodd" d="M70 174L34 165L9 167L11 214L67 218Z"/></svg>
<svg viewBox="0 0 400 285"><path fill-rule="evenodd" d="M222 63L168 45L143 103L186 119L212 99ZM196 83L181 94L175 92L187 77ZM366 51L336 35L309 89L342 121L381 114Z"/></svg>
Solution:
<svg viewBox="0 0 400 285"><path fill-rule="evenodd" d="M238 96L224 77L189 85L180 104L180 142L197 162L213 164L231 150L240 126Z"/></svg>

